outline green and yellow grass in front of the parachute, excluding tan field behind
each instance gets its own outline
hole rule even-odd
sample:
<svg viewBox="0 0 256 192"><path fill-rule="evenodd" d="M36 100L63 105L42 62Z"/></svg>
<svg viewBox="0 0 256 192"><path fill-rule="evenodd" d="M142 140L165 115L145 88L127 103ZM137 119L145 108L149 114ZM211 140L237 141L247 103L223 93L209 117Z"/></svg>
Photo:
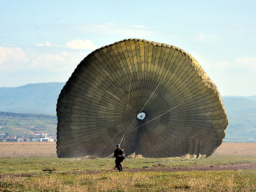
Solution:
<svg viewBox="0 0 256 192"><path fill-rule="evenodd" d="M233 163L233 158L127 159L138 169L165 166ZM236 158L255 162L255 158ZM255 191L255 170L165 172L113 172L113 159L1 158L0 191ZM127 168L126 168L127 169Z"/></svg>

